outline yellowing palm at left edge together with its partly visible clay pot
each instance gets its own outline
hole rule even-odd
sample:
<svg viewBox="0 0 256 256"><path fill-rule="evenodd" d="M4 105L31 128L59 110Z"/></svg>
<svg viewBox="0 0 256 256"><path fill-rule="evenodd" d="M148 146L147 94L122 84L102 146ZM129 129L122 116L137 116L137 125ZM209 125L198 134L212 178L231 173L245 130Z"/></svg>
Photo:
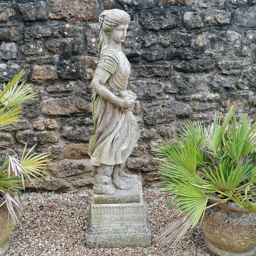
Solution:
<svg viewBox="0 0 256 256"><path fill-rule="evenodd" d="M7 85L3 84L0 88L0 128L2 129L3 127L6 129L6 125L19 119L24 103L35 97L31 84L25 82L18 84L24 74L24 71L21 71ZM25 211L17 191L25 189L26 180L34 184L33 177L39 180L44 178L45 172L41 169L47 168L46 162L49 160L45 159L49 156L48 153L33 153L35 145L29 150L25 145L22 156L18 158L10 148L1 144L0 152L4 161L0 163L0 256L9 250L9 235ZM3 157L3 154L6 157Z"/></svg>

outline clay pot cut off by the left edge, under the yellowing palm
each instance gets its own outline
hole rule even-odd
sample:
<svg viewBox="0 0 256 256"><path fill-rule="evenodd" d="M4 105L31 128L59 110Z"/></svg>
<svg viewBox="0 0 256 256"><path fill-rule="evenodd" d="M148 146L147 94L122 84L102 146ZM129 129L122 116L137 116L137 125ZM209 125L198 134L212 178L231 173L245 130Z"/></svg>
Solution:
<svg viewBox="0 0 256 256"><path fill-rule="evenodd" d="M23 205L23 211L18 215L20 219L25 214L26 207ZM6 204L0 207L0 256L5 255L5 253L10 248L9 236L15 227L15 221L8 214L8 209Z"/></svg>

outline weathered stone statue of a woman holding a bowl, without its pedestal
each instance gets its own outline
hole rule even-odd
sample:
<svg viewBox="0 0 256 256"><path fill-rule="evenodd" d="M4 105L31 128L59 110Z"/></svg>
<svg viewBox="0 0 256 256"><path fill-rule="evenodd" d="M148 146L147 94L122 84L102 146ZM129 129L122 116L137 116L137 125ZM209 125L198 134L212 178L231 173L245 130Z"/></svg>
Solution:
<svg viewBox="0 0 256 256"><path fill-rule="evenodd" d="M136 95L127 91L131 66L121 50L129 22L130 16L118 9L105 10L99 16L100 59L92 80L94 132L88 150L95 166L93 191L98 195L113 195L116 188L132 188L123 165L140 130L131 112Z"/></svg>

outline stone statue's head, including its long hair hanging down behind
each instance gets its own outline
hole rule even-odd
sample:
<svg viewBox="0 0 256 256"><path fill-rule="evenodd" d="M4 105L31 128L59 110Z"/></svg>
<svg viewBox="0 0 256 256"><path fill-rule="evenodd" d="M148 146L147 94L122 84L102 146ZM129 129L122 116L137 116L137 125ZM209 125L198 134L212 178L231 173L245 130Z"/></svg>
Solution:
<svg viewBox="0 0 256 256"><path fill-rule="evenodd" d="M125 11L119 9L105 10L99 16L101 35L99 42L99 53L101 50L108 50L109 37L116 42L122 42L131 17ZM124 31L124 32L121 32Z"/></svg>

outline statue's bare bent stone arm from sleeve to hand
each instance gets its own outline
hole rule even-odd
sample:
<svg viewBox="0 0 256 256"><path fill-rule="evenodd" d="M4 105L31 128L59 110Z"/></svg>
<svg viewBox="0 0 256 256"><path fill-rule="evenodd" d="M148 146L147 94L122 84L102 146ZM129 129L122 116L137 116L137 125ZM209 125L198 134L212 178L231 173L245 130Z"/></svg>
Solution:
<svg viewBox="0 0 256 256"><path fill-rule="evenodd" d="M114 93L112 93L108 88L104 86L105 82L109 79L111 73L97 67L95 71L95 75L92 80L92 88L93 90L100 95L102 98L114 103L115 105L120 106L120 108L129 109L131 105L134 104L136 98L131 97L131 94L127 94L124 98L117 97Z"/></svg>

